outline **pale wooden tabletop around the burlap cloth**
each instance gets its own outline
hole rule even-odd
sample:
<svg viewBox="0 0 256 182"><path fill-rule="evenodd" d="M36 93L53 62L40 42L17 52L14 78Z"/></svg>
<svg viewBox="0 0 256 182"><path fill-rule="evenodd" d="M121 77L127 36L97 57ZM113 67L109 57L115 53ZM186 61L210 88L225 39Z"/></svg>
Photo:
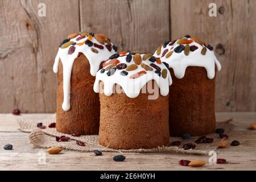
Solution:
<svg viewBox="0 0 256 182"><path fill-rule="evenodd" d="M22 114L27 119L46 118L49 114ZM209 164L192 168L179 166L181 159L204 159L209 156L183 155L173 153L129 154L125 153L125 162L114 162L113 156L119 153L104 152L94 156L92 152L64 150L62 154L46 153L46 164L39 164L40 155L45 149L36 148L28 142L28 133L18 129L12 114L0 114L0 170L256 170L256 130L248 130L256 123L256 113L217 113L217 121L233 118L236 125L229 142L237 139L241 145L217 149L217 158L225 158L228 164ZM14 150L3 150L11 143Z"/></svg>

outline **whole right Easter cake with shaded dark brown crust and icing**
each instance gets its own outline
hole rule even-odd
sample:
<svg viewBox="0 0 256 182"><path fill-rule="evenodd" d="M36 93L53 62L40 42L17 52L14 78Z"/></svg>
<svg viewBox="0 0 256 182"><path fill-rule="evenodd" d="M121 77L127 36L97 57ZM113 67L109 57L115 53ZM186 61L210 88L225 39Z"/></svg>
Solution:
<svg viewBox="0 0 256 182"><path fill-rule="evenodd" d="M186 35L159 46L155 57L168 63L170 86L170 133L180 137L212 133L215 129L215 78L221 65L213 48Z"/></svg>

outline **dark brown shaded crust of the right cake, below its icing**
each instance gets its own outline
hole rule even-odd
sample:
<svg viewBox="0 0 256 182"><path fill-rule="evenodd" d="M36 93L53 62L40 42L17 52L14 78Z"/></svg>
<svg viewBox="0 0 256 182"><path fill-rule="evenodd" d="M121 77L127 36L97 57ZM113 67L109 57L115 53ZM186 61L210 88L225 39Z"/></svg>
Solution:
<svg viewBox="0 0 256 182"><path fill-rule="evenodd" d="M170 68L170 133L181 137L213 133L216 127L214 94L215 77L210 80L205 68L188 67L185 76L178 79Z"/></svg>

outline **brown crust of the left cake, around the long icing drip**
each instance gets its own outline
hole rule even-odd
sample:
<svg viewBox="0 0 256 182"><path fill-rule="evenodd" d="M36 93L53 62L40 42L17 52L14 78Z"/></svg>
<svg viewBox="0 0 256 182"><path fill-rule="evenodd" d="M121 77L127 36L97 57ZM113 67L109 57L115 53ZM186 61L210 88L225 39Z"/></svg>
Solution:
<svg viewBox="0 0 256 182"><path fill-rule="evenodd" d="M61 133L98 134L100 125L100 100L93 92L94 77L90 75L88 59L80 53L76 58L71 75L71 109L64 111L63 65L60 61L57 88L56 129Z"/></svg>

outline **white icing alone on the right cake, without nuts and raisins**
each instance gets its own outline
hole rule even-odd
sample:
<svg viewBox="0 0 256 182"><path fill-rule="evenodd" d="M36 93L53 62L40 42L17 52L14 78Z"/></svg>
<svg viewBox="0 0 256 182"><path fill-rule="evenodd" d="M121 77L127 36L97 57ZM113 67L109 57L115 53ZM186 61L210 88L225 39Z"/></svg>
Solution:
<svg viewBox="0 0 256 182"><path fill-rule="evenodd" d="M188 40L191 40L190 38L188 38ZM169 68L172 68L174 70L174 74L176 78L183 78L185 75L185 70L187 69L187 67L204 67L207 71L207 76L209 79L214 78L215 76L215 65L217 66L217 71L221 70L221 64L220 62L217 60L216 56L214 55L213 51L210 51L207 48L207 52L205 53L205 55L201 54L201 50L203 49L203 46L201 46L199 43L196 42L192 42L189 44L189 46L197 46L198 48L195 51L189 51L189 55L186 56L184 54L184 51L180 52L180 53L172 53L172 55L168 58L166 58L166 55L168 52L174 51L174 49L179 46L179 44L177 44L177 41L174 43L174 45L169 46L169 44L167 44L166 48L161 48L161 52L160 55L157 55L156 52L154 53L154 56L156 57L160 57L160 59L163 62L166 62L169 64ZM184 45L185 46L185 45ZM163 55L163 52L165 49L168 49L168 52L166 53L166 55Z"/></svg>

